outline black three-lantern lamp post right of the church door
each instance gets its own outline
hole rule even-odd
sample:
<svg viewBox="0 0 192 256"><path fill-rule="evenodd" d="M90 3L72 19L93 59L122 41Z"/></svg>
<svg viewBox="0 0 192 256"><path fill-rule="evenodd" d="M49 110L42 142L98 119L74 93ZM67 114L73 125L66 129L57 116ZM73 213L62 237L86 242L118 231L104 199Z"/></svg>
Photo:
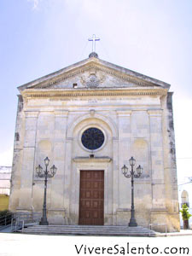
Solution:
<svg viewBox="0 0 192 256"><path fill-rule="evenodd" d="M125 177L131 177L131 218L130 218L130 227L136 227L137 222L135 219L135 208L134 208L134 177L140 177L143 172L142 166L137 167L137 174L133 171L133 166L135 166L136 160L131 156L131 159L129 160L130 166L131 166L131 171L130 174L128 174L128 167L125 165L121 168L122 173L124 174Z"/></svg>

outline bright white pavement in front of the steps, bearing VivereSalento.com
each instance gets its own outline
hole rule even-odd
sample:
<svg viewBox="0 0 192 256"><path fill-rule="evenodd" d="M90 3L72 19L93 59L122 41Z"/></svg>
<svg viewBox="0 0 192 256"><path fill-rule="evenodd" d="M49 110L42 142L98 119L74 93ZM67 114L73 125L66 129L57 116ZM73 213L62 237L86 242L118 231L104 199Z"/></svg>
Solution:
<svg viewBox="0 0 192 256"><path fill-rule="evenodd" d="M192 230L167 237L39 236L0 233L2 256L192 255ZM172 234L169 234L172 235ZM178 235L178 234L177 234Z"/></svg>

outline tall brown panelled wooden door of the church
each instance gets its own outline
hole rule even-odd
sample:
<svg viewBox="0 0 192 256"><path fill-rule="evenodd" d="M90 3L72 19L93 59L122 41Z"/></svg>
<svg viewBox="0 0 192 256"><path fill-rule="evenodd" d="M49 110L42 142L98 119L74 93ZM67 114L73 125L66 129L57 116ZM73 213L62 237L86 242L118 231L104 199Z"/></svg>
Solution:
<svg viewBox="0 0 192 256"><path fill-rule="evenodd" d="M104 224L104 171L80 171L79 224Z"/></svg>

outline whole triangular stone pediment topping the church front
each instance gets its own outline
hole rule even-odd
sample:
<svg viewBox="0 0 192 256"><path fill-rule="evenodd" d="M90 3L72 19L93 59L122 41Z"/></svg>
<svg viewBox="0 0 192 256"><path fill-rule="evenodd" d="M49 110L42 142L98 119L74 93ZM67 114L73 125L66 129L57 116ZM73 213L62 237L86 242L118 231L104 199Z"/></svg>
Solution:
<svg viewBox="0 0 192 256"><path fill-rule="evenodd" d="M96 89L96 88L138 88L152 87L168 89L170 84L149 78L124 67L116 66L96 57L65 67L55 73L50 73L31 83L18 87L26 89Z"/></svg>

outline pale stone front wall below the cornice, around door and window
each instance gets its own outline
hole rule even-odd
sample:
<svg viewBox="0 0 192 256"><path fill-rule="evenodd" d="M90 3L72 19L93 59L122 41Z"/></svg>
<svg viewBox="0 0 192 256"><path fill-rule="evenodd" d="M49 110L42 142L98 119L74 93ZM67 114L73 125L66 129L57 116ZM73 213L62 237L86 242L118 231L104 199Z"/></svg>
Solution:
<svg viewBox="0 0 192 256"><path fill-rule="evenodd" d="M168 230L179 230L177 172L170 154L174 131L169 129L172 113L167 99L41 97L25 99L23 106L20 97L10 210L41 211L44 181L35 168L38 164L44 167L48 156L49 166L57 167L48 182L49 223L78 224L79 172L104 170L104 224L126 225L131 213L131 181L122 175L121 167L125 164L130 169L129 159L134 156L137 165L143 166L143 176L135 180L137 223L167 224ZM93 126L103 131L106 143L91 153L82 147L80 137ZM95 158L90 160L90 154Z"/></svg>

